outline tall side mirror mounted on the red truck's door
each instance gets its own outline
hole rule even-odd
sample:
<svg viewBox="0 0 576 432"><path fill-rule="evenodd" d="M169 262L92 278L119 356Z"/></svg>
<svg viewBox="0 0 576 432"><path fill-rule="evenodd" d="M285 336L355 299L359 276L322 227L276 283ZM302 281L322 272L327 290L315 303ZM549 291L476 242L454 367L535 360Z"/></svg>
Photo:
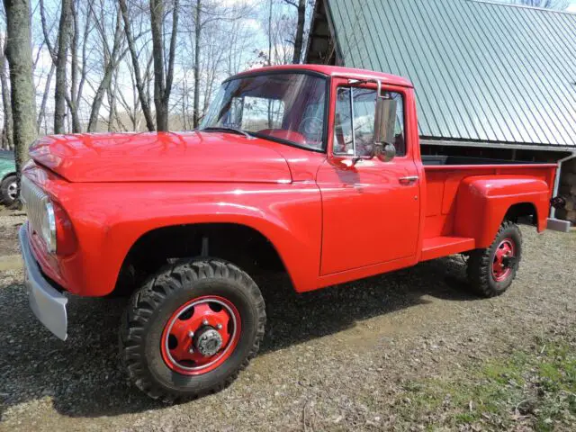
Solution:
<svg viewBox="0 0 576 432"><path fill-rule="evenodd" d="M396 109L396 100L383 97L380 85L378 85L374 112L374 156L383 162L389 162L396 156L396 148L392 144L396 125Z"/></svg>

